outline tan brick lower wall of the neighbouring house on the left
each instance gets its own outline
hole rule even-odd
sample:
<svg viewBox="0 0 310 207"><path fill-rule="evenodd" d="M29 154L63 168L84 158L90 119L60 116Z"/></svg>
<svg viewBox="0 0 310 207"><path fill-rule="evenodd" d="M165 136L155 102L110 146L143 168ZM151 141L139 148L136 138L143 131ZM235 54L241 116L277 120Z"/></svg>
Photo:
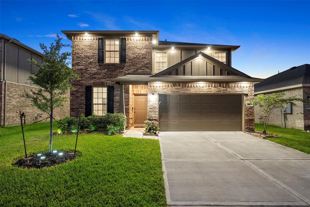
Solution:
<svg viewBox="0 0 310 207"><path fill-rule="evenodd" d="M26 115L26 123L33 123L34 117L37 116L37 113L43 113L36 107L31 107L31 102L27 98L20 97L20 94L24 93L24 90L30 91L30 89L35 90L36 87L23 85L18 83L7 82L7 108L6 108L6 126L20 124L20 116L17 111L24 112ZM2 101L1 104L4 106L4 83L2 83ZM69 96L69 91L65 95ZM69 105L70 100L65 103L65 106L61 109L54 110L54 118L60 119L65 116L69 116ZM2 114L4 114L4 107L2 107ZM38 121L48 117L47 113L43 113L43 117L38 117ZM1 119L1 124L3 125L4 117ZM48 120L49 121L49 120Z"/></svg>

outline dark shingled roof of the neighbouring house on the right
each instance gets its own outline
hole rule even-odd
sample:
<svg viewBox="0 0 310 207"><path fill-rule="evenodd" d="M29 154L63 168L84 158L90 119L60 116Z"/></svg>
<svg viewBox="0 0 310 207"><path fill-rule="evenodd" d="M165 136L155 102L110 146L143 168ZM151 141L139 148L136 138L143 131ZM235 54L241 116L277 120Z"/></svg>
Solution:
<svg viewBox="0 0 310 207"><path fill-rule="evenodd" d="M298 67L291 67L286 71L270 76L264 81L256 83L254 91L256 93L260 91L279 89L300 84L310 84L309 64L304 64Z"/></svg>

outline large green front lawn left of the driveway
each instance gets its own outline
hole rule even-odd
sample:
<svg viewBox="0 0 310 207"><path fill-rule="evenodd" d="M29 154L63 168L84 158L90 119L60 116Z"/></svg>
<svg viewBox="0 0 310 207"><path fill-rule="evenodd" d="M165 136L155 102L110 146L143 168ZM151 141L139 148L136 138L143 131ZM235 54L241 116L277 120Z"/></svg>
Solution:
<svg viewBox="0 0 310 207"><path fill-rule="evenodd" d="M28 155L48 150L48 134L47 122L26 125ZM53 149L73 150L75 138L54 136ZM0 143L0 206L166 206L158 140L81 134L81 157L42 169L12 166L24 156L20 126L1 127Z"/></svg>

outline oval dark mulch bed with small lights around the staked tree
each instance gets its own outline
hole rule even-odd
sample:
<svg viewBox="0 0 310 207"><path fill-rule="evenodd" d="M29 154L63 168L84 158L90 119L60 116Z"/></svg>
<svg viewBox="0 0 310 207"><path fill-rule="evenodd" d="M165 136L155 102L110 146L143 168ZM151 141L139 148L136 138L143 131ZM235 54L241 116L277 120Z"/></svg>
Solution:
<svg viewBox="0 0 310 207"><path fill-rule="evenodd" d="M62 154L61 154L62 153ZM82 155L81 152L76 152L73 157L73 151L58 150L55 153L43 152L40 154L30 155L14 163L14 166L20 168L44 168L67 163Z"/></svg>

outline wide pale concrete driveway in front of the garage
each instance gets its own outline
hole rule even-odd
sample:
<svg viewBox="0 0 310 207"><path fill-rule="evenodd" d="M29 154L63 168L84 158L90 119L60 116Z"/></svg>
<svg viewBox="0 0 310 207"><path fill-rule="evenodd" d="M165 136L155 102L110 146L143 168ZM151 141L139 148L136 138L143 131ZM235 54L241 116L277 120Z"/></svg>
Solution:
<svg viewBox="0 0 310 207"><path fill-rule="evenodd" d="M167 204L310 206L310 155L243 132L160 132Z"/></svg>

